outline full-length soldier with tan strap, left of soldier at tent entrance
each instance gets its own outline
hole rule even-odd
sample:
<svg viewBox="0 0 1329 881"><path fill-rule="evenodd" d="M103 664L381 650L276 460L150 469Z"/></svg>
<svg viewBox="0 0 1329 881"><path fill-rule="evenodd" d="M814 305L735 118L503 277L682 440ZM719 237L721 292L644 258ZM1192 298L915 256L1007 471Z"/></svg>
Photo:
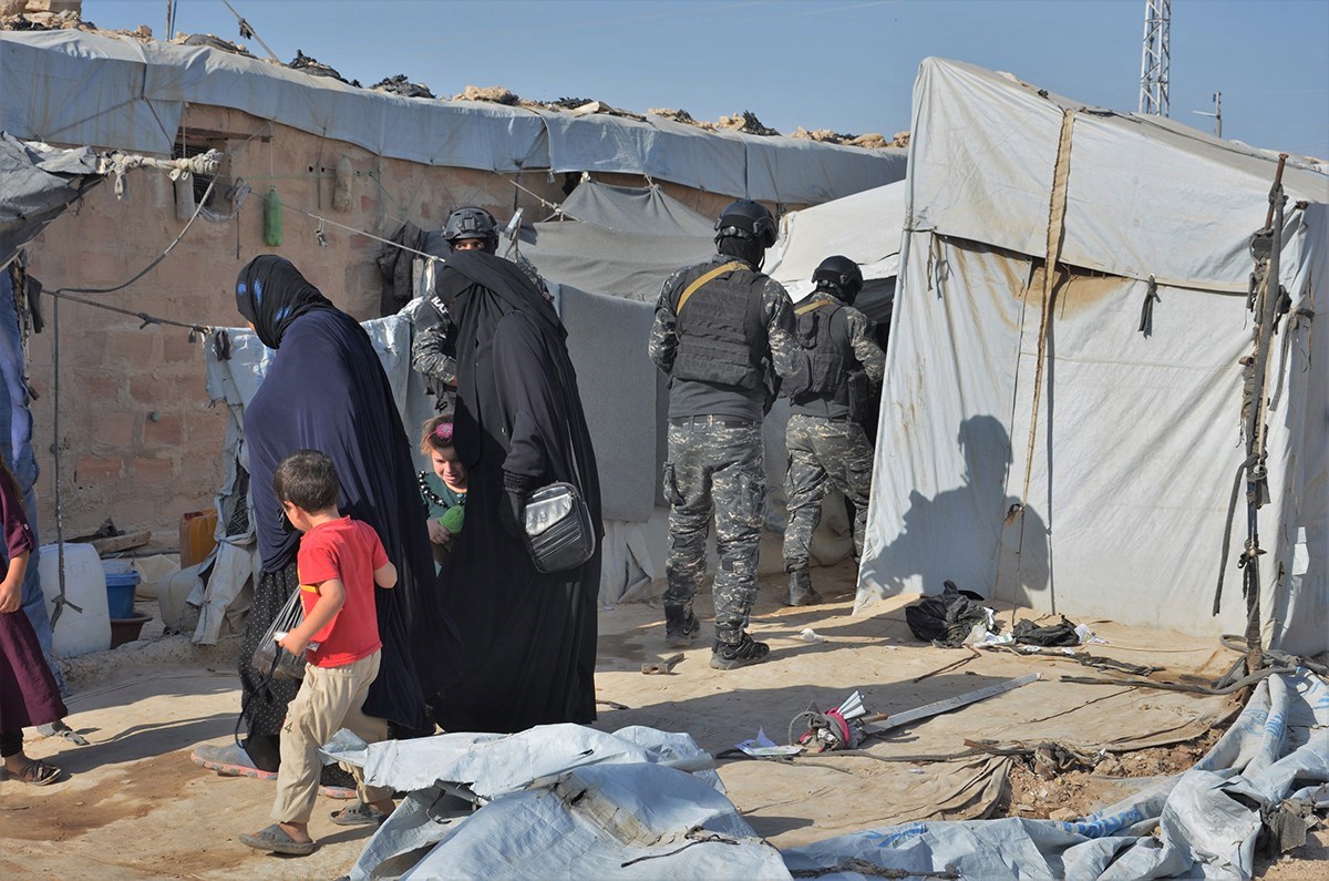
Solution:
<svg viewBox="0 0 1329 881"><path fill-rule="evenodd" d="M715 224L715 257L675 273L661 291L650 355L670 378L670 503L664 635L670 647L700 632L692 596L706 578L706 535L715 512L715 643L711 667L756 664L771 651L744 629L756 598L766 500L762 419L795 366L793 306L762 274L775 221L740 200Z"/></svg>

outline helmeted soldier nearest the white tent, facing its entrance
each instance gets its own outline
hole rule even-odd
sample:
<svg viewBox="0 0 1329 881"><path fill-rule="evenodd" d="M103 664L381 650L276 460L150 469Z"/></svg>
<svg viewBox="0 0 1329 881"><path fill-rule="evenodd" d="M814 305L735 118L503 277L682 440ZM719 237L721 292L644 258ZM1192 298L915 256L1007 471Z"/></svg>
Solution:
<svg viewBox="0 0 1329 881"><path fill-rule="evenodd" d="M785 474L789 526L784 532L784 570L789 606L821 602L812 588L808 552L821 520L821 499L831 487L853 503L853 552L863 556L872 488L872 444L861 421L872 390L881 389L886 355L853 299L863 271L848 257L828 257L812 273L816 291L795 309L803 346L799 369L781 393L789 399Z"/></svg>

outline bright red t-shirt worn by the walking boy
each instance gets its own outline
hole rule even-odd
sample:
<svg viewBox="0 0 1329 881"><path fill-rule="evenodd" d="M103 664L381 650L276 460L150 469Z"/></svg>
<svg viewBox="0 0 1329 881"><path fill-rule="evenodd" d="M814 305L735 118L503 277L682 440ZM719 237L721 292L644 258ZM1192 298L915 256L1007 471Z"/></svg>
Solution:
<svg viewBox="0 0 1329 881"><path fill-rule="evenodd" d="M373 527L348 516L319 523L300 538L295 562L306 615L319 602L319 584L335 578L346 588L346 603L310 640L319 643L310 652L310 663L346 667L379 651L383 643L373 604L373 571L387 566L388 554Z"/></svg>

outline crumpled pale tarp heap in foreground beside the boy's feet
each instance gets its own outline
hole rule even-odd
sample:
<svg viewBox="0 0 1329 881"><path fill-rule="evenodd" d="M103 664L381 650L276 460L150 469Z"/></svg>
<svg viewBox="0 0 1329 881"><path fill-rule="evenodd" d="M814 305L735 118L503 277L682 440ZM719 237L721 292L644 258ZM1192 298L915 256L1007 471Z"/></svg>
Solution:
<svg viewBox="0 0 1329 881"><path fill-rule="evenodd" d="M365 747L339 732L323 752L361 765L372 785L409 791L352 880L789 877L687 735L560 724ZM481 806L448 812L447 792Z"/></svg>

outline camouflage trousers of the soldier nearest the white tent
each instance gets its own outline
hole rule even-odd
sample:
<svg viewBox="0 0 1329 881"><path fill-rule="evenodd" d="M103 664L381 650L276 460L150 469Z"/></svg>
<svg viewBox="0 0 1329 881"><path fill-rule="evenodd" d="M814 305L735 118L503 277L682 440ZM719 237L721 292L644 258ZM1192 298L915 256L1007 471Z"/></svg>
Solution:
<svg viewBox="0 0 1329 881"><path fill-rule="evenodd" d="M784 568L808 568L812 534L821 522L821 499L831 487L853 503L853 552L863 558L872 491L872 444L863 427L793 414L785 431L789 468L784 476L789 526L784 531Z"/></svg>

